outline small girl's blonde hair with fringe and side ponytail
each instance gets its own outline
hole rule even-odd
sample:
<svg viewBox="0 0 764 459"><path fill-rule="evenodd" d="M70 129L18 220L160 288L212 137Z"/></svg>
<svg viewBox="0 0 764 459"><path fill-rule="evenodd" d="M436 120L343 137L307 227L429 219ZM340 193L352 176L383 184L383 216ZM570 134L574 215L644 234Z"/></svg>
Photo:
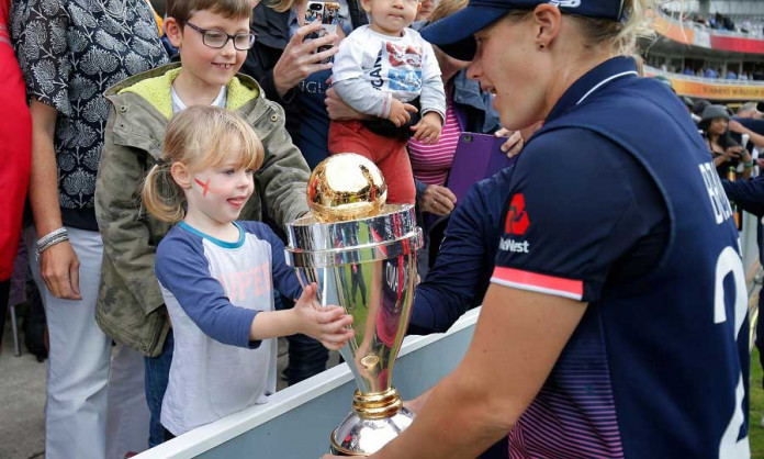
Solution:
<svg viewBox="0 0 764 459"><path fill-rule="evenodd" d="M239 115L211 105L193 105L178 113L167 125L161 158L144 179L146 210L164 222L180 222L186 216L186 194L170 175L172 164L198 171L225 165L232 154L238 155L237 168L262 166L262 143Z"/></svg>

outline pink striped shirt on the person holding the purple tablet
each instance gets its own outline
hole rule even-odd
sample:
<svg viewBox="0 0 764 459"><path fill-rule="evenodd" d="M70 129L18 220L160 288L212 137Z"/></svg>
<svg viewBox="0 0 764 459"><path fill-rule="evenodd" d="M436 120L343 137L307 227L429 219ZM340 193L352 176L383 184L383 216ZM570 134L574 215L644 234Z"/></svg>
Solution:
<svg viewBox="0 0 764 459"><path fill-rule="evenodd" d="M446 90L449 93L449 90ZM428 145L416 138L408 141L408 156L412 160L414 178L427 184L446 184L448 172L453 164L461 128L453 110L451 97L446 97L446 122L440 131L438 143Z"/></svg>

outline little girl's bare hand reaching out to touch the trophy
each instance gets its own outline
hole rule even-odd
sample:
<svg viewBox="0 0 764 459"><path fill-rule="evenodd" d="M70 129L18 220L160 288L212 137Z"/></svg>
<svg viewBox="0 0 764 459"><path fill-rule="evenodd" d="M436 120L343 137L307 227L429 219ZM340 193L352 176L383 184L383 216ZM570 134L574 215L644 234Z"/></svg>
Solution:
<svg viewBox="0 0 764 459"><path fill-rule="evenodd" d="M337 350L356 335L351 328L352 315L339 306L322 307L315 304L316 284L311 283L294 305L300 333L317 339L326 348Z"/></svg>

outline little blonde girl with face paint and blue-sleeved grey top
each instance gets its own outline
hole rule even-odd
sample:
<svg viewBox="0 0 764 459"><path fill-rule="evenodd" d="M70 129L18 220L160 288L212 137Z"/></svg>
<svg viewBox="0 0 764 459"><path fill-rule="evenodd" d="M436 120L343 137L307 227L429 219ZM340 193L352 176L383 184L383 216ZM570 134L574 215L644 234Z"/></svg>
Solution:
<svg viewBox="0 0 764 459"><path fill-rule="evenodd" d="M156 275L172 322L175 354L161 408L166 436L181 435L276 391L276 338L303 333L338 349L352 317L300 295L283 245L258 222L236 219L254 191L262 145L234 112L191 107L168 125L143 202L176 225L157 248ZM274 287L297 298L273 311Z"/></svg>

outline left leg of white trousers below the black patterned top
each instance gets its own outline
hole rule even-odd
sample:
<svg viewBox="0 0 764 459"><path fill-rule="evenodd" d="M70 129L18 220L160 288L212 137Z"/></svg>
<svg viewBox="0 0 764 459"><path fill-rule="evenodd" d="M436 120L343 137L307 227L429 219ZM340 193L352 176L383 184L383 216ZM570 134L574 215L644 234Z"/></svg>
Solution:
<svg viewBox="0 0 764 459"><path fill-rule="evenodd" d="M32 276L47 318L50 352L45 399L45 457L103 459L106 450L106 383L111 339L96 324L96 299L101 279L103 244L98 232L67 228L80 261L82 300L50 294L31 257ZM27 234L33 248L34 231ZM30 253L34 253L30 250Z"/></svg>

